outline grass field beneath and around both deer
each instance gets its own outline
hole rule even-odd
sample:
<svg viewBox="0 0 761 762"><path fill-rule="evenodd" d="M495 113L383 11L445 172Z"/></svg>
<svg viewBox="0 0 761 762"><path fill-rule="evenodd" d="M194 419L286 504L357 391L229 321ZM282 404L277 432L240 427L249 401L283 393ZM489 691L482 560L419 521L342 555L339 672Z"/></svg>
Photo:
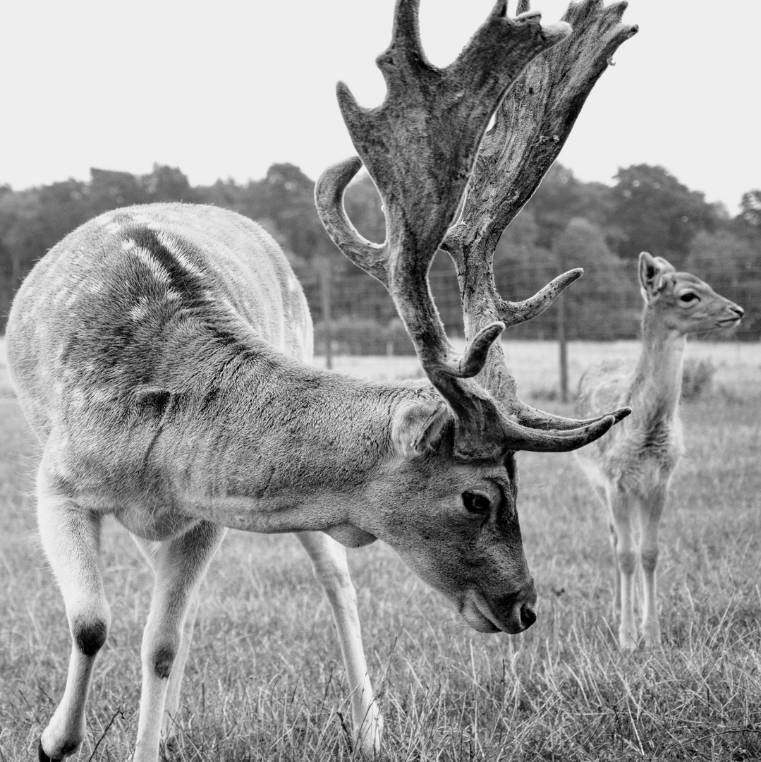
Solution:
<svg viewBox="0 0 761 762"><path fill-rule="evenodd" d="M572 346L572 383L587 358L617 347L631 351ZM542 395L555 383L554 347L520 349L508 347L520 389ZM606 521L572 456L523 453L521 523L540 596L525 634L472 632L382 543L350 551L388 760L761 758L761 353L695 350L710 351L718 370L713 392L683 406L687 452L662 531L663 653L616 645ZM414 370L412 360L401 372ZM396 370L384 358L380 372ZM2 390L0 762L36 754L69 654L34 533L36 444L0 369ZM104 559L113 626L77 760L127 760L136 734L150 580L115 524ZM296 540L231 533L203 592L185 758L353 759L330 611Z"/></svg>

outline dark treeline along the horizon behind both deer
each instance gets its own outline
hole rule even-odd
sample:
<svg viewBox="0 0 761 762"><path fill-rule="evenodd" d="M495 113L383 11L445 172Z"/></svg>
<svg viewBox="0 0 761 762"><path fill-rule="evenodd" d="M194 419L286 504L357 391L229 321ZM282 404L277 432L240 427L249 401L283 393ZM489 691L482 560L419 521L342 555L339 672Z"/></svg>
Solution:
<svg viewBox="0 0 761 762"><path fill-rule="evenodd" d="M392 341L401 350L404 335L400 341L391 300L334 247L318 219L313 192L314 181L289 164L273 165L265 178L247 184L220 180L193 187L179 169L154 165L145 175L92 169L89 181L26 191L0 186L0 330L21 280L66 233L116 207L184 201L213 203L262 223L299 274L318 333L325 306L331 305L338 349L343 344L361 351L372 344L375 351ZM382 241L384 219L372 181L363 176L353 182L346 203L360 232ZM585 277L561 297L566 335L630 338L637 334L641 311L635 269L640 251L708 280L746 307L741 338L761 336L754 315L761 295L761 191L744 194L733 217L658 166L620 169L609 186L581 182L556 164L502 236L494 256L495 280L504 298L523 299L561 271L584 267ZM447 329L461 332L456 280L442 253L433 263L431 282ZM516 336L554 335L560 312L548 310L517 328Z"/></svg>

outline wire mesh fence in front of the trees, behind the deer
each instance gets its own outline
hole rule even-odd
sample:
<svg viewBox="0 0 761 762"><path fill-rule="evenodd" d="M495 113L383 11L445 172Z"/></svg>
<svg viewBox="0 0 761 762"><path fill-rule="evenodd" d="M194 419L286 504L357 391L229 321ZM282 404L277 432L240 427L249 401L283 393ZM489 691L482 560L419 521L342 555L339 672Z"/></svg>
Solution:
<svg viewBox="0 0 761 762"><path fill-rule="evenodd" d="M606 341L638 338L642 297L638 285L638 264L625 261L612 273L587 267L584 277L573 283L546 312L510 329L511 339L553 339L564 334L568 340ZM504 299L518 301L536 293L560 271L546 266L521 264L509 274L496 277ZM761 303L761 267L745 271L742 277L725 271L698 274L718 293L746 310L737 329L740 341L761 338L761 319L756 306ZM615 276L615 277L613 277ZM341 354L409 354L412 346L398 320L391 297L381 283L360 271L303 277L302 284L312 310L318 337L318 351L326 339L325 318L331 323L333 351ZM462 307L454 271L432 271L431 292L446 331L462 337ZM716 337L713 337L716 338Z"/></svg>

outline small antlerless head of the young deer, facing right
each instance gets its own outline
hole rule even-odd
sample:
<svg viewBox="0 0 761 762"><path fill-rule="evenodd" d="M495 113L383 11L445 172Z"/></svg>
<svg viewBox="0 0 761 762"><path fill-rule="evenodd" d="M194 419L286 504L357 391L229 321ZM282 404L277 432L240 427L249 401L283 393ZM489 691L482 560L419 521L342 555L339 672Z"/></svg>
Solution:
<svg viewBox="0 0 761 762"><path fill-rule="evenodd" d="M673 264L647 251L639 255L639 280L646 309L678 335L734 328L745 314L742 307L720 296L705 280L692 273L678 273Z"/></svg>

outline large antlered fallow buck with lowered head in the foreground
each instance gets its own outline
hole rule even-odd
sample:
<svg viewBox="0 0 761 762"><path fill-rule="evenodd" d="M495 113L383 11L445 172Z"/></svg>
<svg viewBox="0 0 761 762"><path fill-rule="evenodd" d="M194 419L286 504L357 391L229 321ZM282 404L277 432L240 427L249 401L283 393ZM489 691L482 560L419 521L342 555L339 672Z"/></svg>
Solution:
<svg viewBox="0 0 761 762"><path fill-rule="evenodd" d="M171 751L193 628L187 611L225 527L298 533L333 609L366 754L379 751L381 718L339 543L385 540L477 630L533 623L514 455L582 447L629 409L572 421L520 402L494 342L505 325L546 309L580 271L509 303L494 288L491 254L613 51L634 34L620 23L624 8L586 0L571 5L568 23L542 26L526 3L507 18L500 0L456 61L436 69L420 48L417 0L398 0L392 43L378 59L384 103L362 109L339 85L344 120L384 203L386 241L362 239L344 212L357 158L321 176L318 210L344 254L388 287L430 384L312 367L302 290L273 239L235 213L117 210L37 264L11 309L8 357L42 443L40 534L72 636L41 760L73 754L85 735L91 672L110 621L98 558L107 514L155 571L135 762L155 762L162 735ZM428 286L440 245L458 266L468 334L461 357Z"/></svg>

